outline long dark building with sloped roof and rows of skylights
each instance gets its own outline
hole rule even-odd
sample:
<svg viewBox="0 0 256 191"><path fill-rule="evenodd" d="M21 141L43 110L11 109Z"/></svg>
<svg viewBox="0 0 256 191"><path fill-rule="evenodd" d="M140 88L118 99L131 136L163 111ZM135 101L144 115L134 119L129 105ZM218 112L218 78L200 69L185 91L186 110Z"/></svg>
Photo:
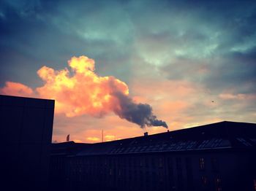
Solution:
<svg viewBox="0 0 256 191"><path fill-rule="evenodd" d="M256 124L217 122L98 144L53 144L59 190L256 190Z"/></svg>

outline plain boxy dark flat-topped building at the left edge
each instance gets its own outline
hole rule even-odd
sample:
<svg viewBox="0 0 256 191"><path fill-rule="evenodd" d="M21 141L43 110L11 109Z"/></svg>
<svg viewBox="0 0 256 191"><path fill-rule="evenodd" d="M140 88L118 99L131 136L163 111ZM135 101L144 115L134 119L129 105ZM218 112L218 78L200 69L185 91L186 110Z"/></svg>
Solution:
<svg viewBox="0 0 256 191"><path fill-rule="evenodd" d="M1 189L48 189L53 113L53 100L0 95Z"/></svg>

